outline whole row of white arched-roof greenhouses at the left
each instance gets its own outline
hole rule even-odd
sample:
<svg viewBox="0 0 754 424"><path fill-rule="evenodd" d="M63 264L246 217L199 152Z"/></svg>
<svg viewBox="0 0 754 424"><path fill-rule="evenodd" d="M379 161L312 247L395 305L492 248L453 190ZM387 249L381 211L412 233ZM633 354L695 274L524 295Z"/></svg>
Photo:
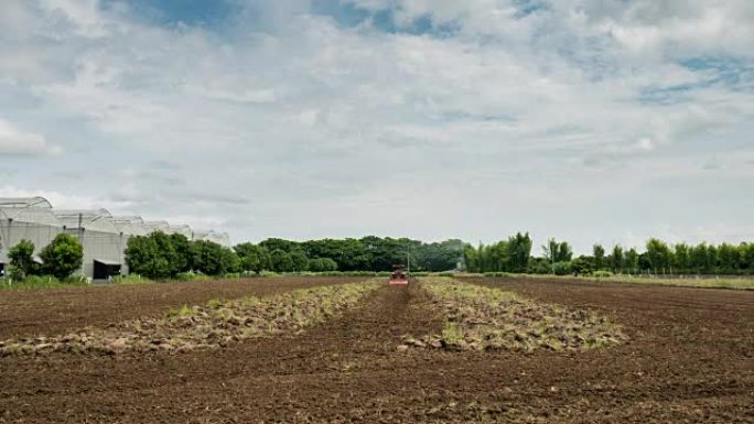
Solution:
<svg viewBox="0 0 754 424"><path fill-rule="evenodd" d="M56 210L43 197L0 198L0 276L4 275L9 250L21 240L32 241L36 254L57 235L66 232L75 236L84 247L80 273L94 280L106 280L128 272L123 253L128 240L154 231L230 247L227 233L194 233L186 225L144 221L139 216L114 217L106 209Z"/></svg>

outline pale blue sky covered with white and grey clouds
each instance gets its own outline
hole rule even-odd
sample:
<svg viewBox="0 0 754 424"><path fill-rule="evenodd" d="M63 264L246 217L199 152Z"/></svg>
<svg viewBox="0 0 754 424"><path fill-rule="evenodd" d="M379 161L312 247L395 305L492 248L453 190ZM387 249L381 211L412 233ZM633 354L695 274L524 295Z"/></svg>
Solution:
<svg viewBox="0 0 754 424"><path fill-rule="evenodd" d="M753 46L751 0L2 0L0 196L236 242L751 241Z"/></svg>

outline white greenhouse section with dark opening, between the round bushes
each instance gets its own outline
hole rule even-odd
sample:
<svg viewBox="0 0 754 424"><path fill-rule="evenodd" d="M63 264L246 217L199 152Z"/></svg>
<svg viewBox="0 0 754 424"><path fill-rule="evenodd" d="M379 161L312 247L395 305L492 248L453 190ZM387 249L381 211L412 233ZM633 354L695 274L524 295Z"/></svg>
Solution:
<svg viewBox="0 0 754 424"><path fill-rule="evenodd" d="M95 280L119 275L128 237L105 209L56 210L65 232L76 236L84 247L82 273Z"/></svg>

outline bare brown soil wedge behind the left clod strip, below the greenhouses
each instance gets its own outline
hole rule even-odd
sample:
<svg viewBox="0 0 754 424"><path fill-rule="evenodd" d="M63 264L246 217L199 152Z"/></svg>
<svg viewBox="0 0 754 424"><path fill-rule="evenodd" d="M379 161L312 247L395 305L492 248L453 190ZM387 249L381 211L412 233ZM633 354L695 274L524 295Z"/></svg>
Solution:
<svg viewBox="0 0 754 424"><path fill-rule="evenodd" d="M282 293L364 278L266 278L0 292L0 340L152 316L212 298Z"/></svg>

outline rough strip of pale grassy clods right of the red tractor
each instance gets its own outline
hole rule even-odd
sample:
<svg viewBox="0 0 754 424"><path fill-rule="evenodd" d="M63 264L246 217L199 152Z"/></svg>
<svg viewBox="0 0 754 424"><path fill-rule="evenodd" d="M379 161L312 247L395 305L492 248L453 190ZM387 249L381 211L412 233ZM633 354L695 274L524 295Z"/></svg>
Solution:
<svg viewBox="0 0 754 424"><path fill-rule="evenodd" d="M424 278L421 285L445 324L440 334L405 336L401 350L581 351L627 340L621 326L583 309L538 303L446 278Z"/></svg>

